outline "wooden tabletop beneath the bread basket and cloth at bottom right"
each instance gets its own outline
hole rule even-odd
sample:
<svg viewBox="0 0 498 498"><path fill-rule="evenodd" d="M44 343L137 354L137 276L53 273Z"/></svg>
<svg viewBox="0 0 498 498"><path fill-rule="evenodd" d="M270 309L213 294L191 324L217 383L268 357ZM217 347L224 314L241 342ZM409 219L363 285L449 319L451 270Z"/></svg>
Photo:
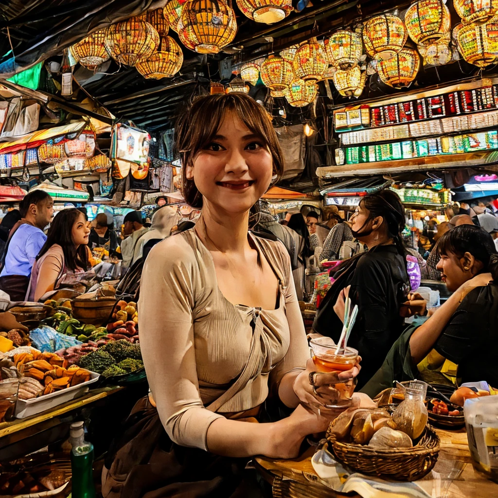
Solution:
<svg viewBox="0 0 498 498"><path fill-rule="evenodd" d="M453 481L449 489L451 498L498 497L498 485L474 469L467 443L465 429L446 431L436 429L441 439L441 451L438 461L458 460L467 464L458 481ZM310 448L301 457L292 460L272 460L257 457L253 460L258 472L272 485L274 498L345 498L359 495L336 493L322 485L311 465L314 448ZM432 484L424 485L429 495Z"/></svg>

